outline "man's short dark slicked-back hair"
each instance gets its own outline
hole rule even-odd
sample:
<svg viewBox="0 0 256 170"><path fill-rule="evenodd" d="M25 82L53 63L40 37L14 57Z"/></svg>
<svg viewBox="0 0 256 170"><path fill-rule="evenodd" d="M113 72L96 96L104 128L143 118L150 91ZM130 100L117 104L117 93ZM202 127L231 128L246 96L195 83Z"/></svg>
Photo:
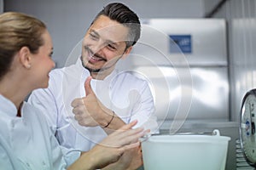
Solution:
<svg viewBox="0 0 256 170"><path fill-rule="evenodd" d="M109 3L96 15L96 18L92 21L91 25L101 15L108 16L111 20L116 20L120 24L129 28L126 48L136 44L137 40L141 36L141 24L137 14L135 14L130 8L125 6L123 3Z"/></svg>

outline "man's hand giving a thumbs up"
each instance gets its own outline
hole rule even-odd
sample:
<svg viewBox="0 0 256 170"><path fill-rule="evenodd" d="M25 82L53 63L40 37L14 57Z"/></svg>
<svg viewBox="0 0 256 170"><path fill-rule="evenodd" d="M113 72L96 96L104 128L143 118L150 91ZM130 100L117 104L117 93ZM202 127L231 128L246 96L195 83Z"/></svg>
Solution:
<svg viewBox="0 0 256 170"><path fill-rule="evenodd" d="M74 99L71 104L73 106L74 118L81 126L104 127L108 124L106 116L110 116L112 111L108 110L108 108L102 105L100 100L96 98L96 94L90 87L90 81L91 77L88 77L84 82L85 97Z"/></svg>

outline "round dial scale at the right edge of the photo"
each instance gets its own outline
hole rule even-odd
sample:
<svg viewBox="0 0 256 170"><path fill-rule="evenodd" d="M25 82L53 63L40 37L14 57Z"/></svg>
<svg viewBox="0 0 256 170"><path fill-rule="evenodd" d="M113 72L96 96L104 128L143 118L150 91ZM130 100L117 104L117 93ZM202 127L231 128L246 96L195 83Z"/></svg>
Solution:
<svg viewBox="0 0 256 170"><path fill-rule="evenodd" d="M256 167L256 89L245 94L241 103L240 116L240 143L241 151L246 161L252 167Z"/></svg>

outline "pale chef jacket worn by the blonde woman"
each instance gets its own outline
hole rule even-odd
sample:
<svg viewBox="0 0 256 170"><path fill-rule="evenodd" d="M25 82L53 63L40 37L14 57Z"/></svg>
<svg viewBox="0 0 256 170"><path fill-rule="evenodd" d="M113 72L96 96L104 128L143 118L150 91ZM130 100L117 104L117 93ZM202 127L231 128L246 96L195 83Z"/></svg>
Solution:
<svg viewBox="0 0 256 170"><path fill-rule="evenodd" d="M38 109L23 103L21 117L15 105L0 94L0 169L66 169L80 151L61 147Z"/></svg>

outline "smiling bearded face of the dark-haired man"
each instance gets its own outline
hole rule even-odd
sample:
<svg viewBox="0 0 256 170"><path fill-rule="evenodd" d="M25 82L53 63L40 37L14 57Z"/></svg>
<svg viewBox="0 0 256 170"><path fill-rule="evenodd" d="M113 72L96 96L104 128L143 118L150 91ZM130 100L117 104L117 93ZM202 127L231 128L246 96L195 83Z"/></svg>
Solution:
<svg viewBox="0 0 256 170"><path fill-rule="evenodd" d="M84 66L92 72L113 70L118 59L131 51L125 44L128 31L117 21L101 15L85 34L82 49Z"/></svg>

